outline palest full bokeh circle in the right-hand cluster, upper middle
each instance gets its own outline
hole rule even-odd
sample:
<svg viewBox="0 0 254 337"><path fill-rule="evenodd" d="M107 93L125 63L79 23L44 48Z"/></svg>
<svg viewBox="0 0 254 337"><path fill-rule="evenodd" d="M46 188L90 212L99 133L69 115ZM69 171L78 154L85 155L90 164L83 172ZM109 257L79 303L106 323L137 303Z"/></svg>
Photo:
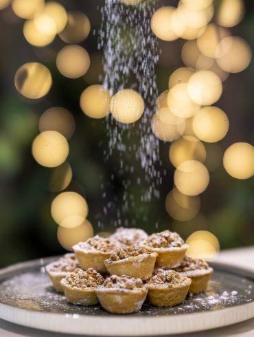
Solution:
<svg viewBox="0 0 254 337"><path fill-rule="evenodd" d="M189 78L187 85L189 97L199 105L211 105L222 94L220 78L209 70L200 70Z"/></svg>

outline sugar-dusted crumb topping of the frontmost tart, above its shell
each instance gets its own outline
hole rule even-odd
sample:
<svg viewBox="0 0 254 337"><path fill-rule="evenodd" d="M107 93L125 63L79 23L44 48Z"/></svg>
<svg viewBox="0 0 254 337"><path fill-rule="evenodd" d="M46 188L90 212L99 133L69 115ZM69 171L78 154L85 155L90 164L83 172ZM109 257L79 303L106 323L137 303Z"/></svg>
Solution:
<svg viewBox="0 0 254 337"><path fill-rule="evenodd" d="M143 287L143 282L141 279L135 279L135 277L132 277L132 276L112 275L104 281L103 287L119 288L119 289L126 289L126 290L137 290Z"/></svg>

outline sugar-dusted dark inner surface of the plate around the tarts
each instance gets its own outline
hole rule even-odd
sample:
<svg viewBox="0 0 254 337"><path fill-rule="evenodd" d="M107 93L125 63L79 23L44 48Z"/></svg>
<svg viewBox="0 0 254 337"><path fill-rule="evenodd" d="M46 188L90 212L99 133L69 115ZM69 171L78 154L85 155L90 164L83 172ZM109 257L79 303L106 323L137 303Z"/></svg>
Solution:
<svg viewBox="0 0 254 337"><path fill-rule="evenodd" d="M157 308L145 304L141 312L133 315L137 317L190 314L242 305L254 301L253 289L254 280L215 268L205 294L187 296L185 302L176 307ZM0 281L0 301L14 307L40 312L55 312L72 316L77 314L111 316L99 305L82 307L67 303L63 294L54 291L41 265Z"/></svg>

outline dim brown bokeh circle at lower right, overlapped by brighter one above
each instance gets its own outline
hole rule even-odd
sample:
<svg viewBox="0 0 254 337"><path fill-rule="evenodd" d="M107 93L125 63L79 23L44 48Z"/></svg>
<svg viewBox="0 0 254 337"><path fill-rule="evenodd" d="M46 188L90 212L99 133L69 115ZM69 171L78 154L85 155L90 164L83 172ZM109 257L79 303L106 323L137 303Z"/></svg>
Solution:
<svg viewBox="0 0 254 337"><path fill-rule="evenodd" d="M165 199L165 208L176 221L189 221L196 217L200 210L200 198L189 197L173 188Z"/></svg>

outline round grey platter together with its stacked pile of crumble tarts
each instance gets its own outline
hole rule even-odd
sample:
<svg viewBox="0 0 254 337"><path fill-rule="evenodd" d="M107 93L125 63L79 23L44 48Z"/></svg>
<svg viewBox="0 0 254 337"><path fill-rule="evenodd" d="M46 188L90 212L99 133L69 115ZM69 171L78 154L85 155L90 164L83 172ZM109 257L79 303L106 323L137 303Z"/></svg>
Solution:
<svg viewBox="0 0 254 337"><path fill-rule="evenodd" d="M118 228L0 272L0 318L90 336L213 329L254 317L254 273L193 259L165 230Z"/></svg>

